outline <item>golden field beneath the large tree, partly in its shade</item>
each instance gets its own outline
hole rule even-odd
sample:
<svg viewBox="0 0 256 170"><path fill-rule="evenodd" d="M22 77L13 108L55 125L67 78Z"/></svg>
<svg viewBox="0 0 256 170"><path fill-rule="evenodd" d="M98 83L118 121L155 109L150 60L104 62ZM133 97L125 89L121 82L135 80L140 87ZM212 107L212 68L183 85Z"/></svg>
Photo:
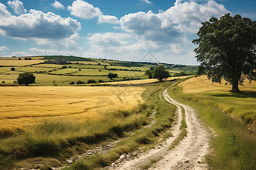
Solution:
<svg viewBox="0 0 256 170"><path fill-rule="evenodd" d="M232 86L229 84L212 83L207 76L194 77L179 84L189 100L218 107L256 126L256 82L250 84L246 80L243 85L238 86L242 92L236 94L230 91Z"/></svg>

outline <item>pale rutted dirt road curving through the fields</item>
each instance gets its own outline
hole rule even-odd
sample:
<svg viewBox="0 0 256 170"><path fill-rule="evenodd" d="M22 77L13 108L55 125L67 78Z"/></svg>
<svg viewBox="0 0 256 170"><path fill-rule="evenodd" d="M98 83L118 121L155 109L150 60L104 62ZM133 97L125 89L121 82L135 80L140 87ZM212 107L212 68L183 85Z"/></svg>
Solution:
<svg viewBox="0 0 256 170"><path fill-rule="evenodd" d="M204 156L208 153L209 132L197 117L195 109L188 105L179 103L163 91L163 97L177 107L177 124L171 128L173 137L168 138L159 146L141 153L133 160L125 160L113 169L141 169L142 165L148 164L152 159L161 157L150 169L207 169ZM187 123L187 137L180 141L179 145L169 150L172 142L180 134L181 108L185 109L185 121Z"/></svg>

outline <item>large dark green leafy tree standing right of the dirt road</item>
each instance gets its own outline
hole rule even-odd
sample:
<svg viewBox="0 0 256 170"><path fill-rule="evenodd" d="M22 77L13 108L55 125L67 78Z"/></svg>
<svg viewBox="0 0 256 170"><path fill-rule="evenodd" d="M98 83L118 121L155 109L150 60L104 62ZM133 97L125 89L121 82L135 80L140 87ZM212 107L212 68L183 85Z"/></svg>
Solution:
<svg viewBox="0 0 256 170"><path fill-rule="evenodd" d="M193 43L199 44L194 51L208 78L218 83L225 79L234 92L240 91L238 84L246 78L255 80L256 22L225 14L202 24Z"/></svg>

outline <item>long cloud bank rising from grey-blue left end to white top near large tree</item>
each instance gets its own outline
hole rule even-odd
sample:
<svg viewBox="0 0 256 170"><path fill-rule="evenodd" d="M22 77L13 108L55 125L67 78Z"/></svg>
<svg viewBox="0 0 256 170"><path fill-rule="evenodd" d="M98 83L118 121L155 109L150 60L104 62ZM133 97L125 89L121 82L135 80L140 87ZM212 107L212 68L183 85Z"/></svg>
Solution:
<svg viewBox="0 0 256 170"><path fill-rule="evenodd" d="M195 34L201 22L229 11L212 0L204 5L196 2L175 2L175 6L154 14L152 11L128 14L120 19L121 28L144 40L172 41L181 34ZM176 40L175 40L176 41Z"/></svg>

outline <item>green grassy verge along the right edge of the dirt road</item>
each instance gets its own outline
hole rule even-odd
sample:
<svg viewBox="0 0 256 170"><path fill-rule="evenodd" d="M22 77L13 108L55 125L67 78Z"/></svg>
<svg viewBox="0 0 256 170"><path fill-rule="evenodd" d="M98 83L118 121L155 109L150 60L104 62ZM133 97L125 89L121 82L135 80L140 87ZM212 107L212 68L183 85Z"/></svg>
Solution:
<svg viewBox="0 0 256 170"><path fill-rule="evenodd" d="M207 158L213 169L255 169L255 133L248 130L245 121L232 117L225 109L218 107L221 101L217 96L209 98L184 94L179 86L168 92L174 99L196 108L199 116L216 131L217 137L213 137L211 142L213 152ZM240 97L237 96L236 100L239 101ZM246 110L246 107L243 109Z"/></svg>

